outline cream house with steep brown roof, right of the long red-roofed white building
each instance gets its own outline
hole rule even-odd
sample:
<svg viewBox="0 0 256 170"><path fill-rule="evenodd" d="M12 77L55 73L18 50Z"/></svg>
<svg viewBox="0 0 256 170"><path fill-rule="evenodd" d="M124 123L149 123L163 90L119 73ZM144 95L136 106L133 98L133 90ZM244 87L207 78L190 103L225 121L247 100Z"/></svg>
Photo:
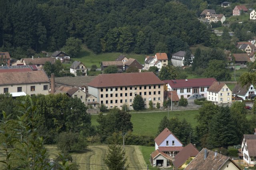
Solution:
<svg viewBox="0 0 256 170"><path fill-rule="evenodd" d="M214 104L232 102L232 91L225 83L213 82L207 90L207 100Z"/></svg>

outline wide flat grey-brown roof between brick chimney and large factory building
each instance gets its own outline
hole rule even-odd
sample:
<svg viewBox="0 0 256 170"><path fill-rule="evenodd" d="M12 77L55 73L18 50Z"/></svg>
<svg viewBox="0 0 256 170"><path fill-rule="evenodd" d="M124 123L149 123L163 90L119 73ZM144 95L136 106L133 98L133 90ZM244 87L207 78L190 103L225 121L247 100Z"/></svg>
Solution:
<svg viewBox="0 0 256 170"><path fill-rule="evenodd" d="M55 77L55 83L65 85L82 87L87 86L96 76L78 76L78 77Z"/></svg>

